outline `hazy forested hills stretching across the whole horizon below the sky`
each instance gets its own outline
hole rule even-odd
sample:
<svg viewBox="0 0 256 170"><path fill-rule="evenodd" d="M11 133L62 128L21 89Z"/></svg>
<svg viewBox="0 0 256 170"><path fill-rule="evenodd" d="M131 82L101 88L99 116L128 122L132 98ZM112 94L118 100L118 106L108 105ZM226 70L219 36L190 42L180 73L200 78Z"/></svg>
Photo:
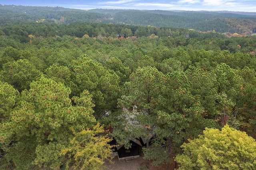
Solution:
<svg viewBox="0 0 256 170"><path fill-rule="evenodd" d="M166 10L77 10L62 7L0 5L0 26L12 22L96 22L155 27L188 28L202 32L256 33L256 12L166 11Z"/></svg>

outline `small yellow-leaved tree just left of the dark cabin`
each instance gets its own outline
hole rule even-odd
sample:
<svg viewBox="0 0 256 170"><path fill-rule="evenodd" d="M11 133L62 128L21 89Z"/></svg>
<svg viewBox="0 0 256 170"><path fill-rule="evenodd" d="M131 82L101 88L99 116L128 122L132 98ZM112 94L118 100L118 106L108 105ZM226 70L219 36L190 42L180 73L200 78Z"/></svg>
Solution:
<svg viewBox="0 0 256 170"><path fill-rule="evenodd" d="M71 129L74 132L74 129ZM102 168L104 160L109 159L112 153L111 141L108 136L97 136L105 133L105 130L98 123L92 130L84 129L81 132L74 132L74 138L70 141L70 146L63 149L61 155L68 155L66 169L75 168L81 170L99 170Z"/></svg>

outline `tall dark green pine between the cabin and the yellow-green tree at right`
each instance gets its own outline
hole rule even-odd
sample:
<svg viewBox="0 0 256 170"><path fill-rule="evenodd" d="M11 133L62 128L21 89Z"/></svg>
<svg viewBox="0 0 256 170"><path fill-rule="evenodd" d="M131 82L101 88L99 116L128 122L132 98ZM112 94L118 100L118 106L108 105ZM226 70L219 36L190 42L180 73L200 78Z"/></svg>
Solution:
<svg viewBox="0 0 256 170"><path fill-rule="evenodd" d="M144 155L156 166L167 163L168 169L171 158L180 152L178 148L186 139L196 137L205 127L215 127L216 123L203 117L200 97L191 92L183 71L173 71L163 77L158 103L154 129L157 138Z"/></svg>

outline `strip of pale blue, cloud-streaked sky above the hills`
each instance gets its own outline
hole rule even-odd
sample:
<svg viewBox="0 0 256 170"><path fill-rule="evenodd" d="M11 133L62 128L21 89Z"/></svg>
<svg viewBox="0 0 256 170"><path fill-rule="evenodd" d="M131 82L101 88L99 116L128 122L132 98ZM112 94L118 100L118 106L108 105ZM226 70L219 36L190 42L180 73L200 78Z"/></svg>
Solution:
<svg viewBox="0 0 256 170"><path fill-rule="evenodd" d="M0 4L77 9L137 9L256 12L256 0L0 0Z"/></svg>

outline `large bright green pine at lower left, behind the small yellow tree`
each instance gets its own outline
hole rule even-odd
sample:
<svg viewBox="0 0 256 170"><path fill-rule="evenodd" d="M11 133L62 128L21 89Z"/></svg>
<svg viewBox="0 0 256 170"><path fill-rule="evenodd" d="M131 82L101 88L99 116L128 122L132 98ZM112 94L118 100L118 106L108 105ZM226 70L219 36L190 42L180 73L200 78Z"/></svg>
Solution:
<svg viewBox="0 0 256 170"><path fill-rule="evenodd" d="M74 133L94 129L93 134L98 135L92 95L83 91L80 97L73 97L73 106L70 92L69 87L45 77L33 81L29 91L22 91L20 104L0 124L1 148L5 153L0 161L6 160L16 169L56 169L65 158L70 158L60 153L70 147ZM102 153L108 153L108 147L106 151Z"/></svg>

